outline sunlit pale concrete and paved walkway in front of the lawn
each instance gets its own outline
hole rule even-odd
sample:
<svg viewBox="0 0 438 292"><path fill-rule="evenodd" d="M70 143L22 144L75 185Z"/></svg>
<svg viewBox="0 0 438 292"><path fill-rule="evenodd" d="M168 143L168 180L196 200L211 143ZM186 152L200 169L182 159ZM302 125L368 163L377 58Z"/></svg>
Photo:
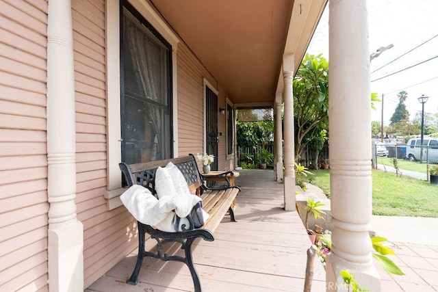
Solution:
<svg viewBox="0 0 438 292"><path fill-rule="evenodd" d="M305 193L325 197L313 185ZM372 231L388 239L396 253L389 256L404 276L389 275L376 264L381 291L438 291L438 218L372 216ZM366 287L366 285L363 285Z"/></svg>

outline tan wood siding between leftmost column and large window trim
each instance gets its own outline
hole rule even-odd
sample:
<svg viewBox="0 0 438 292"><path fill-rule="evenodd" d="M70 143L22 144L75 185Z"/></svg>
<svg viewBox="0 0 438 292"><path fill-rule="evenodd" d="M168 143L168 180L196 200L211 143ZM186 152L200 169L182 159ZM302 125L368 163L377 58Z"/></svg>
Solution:
<svg viewBox="0 0 438 292"><path fill-rule="evenodd" d="M84 287L101 277L137 243L133 217L107 210L105 1L73 0L77 216L83 224ZM129 231L131 230L131 231Z"/></svg>

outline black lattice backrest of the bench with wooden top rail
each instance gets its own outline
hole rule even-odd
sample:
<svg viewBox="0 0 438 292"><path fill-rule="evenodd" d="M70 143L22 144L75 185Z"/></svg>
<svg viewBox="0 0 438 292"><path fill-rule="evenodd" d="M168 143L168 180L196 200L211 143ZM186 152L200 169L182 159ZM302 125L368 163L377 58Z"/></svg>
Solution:
<svg viewBox="0 0 438 292"><path fill-rule="evenodd" d="M198 165L194 155L190 154L185 157L164 159L158 161L150 161L146 163L136 163L128 165L125 162L118 163L120 170L123 172L125 181L128 187L134 184L142 185L148 188L152 194L156 195L155 191L155 173L157 168L164 168L167 163L172 162L181 170L185 181L189 185L190 192L196 191L201 187L202 182L199 175Z"/></svg>

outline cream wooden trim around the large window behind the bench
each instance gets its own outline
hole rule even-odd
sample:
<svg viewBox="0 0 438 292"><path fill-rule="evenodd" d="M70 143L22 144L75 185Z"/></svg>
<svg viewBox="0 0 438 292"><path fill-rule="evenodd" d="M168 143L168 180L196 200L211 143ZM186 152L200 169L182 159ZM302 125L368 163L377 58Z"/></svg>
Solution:
<svg viewBox="0 0 438 292"><path fill-rule="evenodd" d="M176 34L160 18L146 1L129 0L129 3L151 23L172 46L172 120L173 156L178 157L178 112L177 112L177 49L180 42ZM121 172L118 168L121 157L120 129L120 1L107 0L106 5L106 90L107 90L107 207L112 210L122 205L120 194Z"/></svg>

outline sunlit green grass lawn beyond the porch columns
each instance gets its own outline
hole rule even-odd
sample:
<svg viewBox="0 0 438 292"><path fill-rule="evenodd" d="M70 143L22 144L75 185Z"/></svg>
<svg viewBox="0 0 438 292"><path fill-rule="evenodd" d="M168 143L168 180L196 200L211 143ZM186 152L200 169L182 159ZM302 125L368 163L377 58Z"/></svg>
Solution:
<svg viewBox="0 0 438 292"><path fill-rule="evenodd" d="M330 198L330 170L311 170L311 183ZM438 185L372 170L372 213L385 216L438 217Z"/></svg>

